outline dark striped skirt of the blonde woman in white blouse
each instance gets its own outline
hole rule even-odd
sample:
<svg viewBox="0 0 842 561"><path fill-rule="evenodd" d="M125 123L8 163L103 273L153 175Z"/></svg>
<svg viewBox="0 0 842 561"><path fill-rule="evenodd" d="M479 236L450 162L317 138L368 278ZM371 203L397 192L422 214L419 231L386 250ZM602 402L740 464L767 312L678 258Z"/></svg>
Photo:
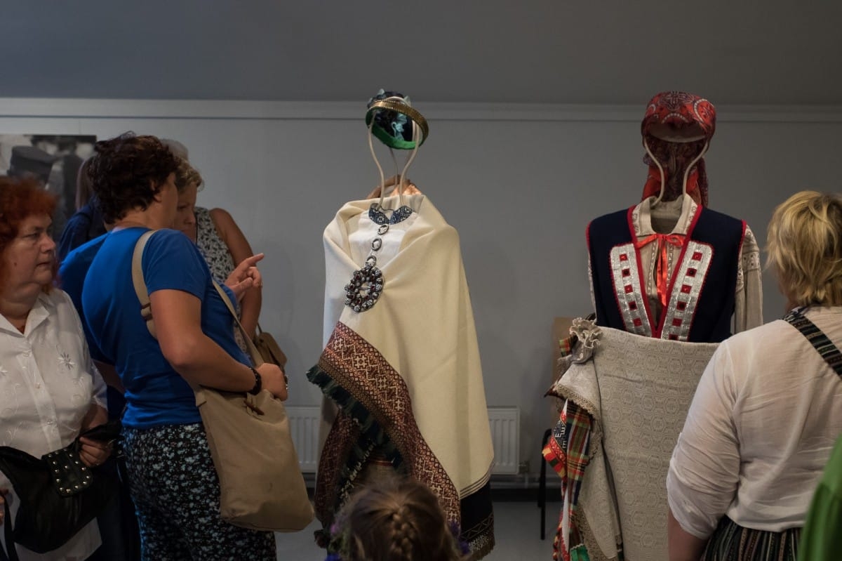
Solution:
<svg viewBox="0 0 842 561"><path fill-rule="evenodd" d="M707 542L703 561L797 561L801 528L764 532L723 516Z"/></svg>

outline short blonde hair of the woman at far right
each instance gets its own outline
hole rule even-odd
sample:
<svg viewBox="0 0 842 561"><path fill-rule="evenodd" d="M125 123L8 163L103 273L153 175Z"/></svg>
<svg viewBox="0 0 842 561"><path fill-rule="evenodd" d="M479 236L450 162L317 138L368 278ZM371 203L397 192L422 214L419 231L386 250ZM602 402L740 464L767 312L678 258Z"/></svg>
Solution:
<svg viewBox="0 0 842 561"><path fill-rule="evenodd" d="M842 304L842 195L801 191L775 208L766 266L797 306Z"/></svg>

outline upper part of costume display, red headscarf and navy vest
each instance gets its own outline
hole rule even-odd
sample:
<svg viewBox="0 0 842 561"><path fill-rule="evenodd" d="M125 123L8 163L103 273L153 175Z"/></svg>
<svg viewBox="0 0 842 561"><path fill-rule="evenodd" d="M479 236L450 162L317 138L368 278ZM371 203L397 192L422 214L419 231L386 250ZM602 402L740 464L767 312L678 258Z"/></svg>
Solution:
<svg viewBox="0 0 842 561"><path fill-rule="evenodd" d="M707 208L702 157L715 126L713 105L690 93L659 93L647 106L642 202L588 227L598 324L716 343L763 323L754 233Z"/></svg>

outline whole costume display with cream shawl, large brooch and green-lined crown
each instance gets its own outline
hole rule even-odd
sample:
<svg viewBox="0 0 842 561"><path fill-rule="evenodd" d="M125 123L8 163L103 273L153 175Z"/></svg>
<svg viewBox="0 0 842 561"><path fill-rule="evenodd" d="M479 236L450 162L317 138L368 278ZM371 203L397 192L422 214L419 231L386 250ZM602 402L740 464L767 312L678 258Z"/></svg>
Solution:
<svg viewBox="0 0 842 561"><path fill-rule="evenodd" d="M397 472L432 489L482 558L494 545L493 449L459 237L403 179L427 121L402 96L380 98L369 142L412 152L387 196L375 156L377 198L345 204L324 232L324 350L307 373L325 395L317 542L328 545L355 490Z"/></svg>

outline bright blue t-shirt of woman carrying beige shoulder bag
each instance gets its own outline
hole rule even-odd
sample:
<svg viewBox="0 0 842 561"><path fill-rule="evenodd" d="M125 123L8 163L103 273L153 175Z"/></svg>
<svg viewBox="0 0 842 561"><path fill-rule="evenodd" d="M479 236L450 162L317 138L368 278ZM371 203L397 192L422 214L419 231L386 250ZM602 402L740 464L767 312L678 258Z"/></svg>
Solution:
<svg viewBox="0 0 842 561"><path fill-rule="evenodd" d="M201 421L189 384L173 370L141 317L131 282L131 256L147 228L111 232L88 270L82 303L88 326L125 387L123 424L146 429ZM201 301L202 331L235 360L248 365L234 339L233 318L212 283L199 249L182 232L160 230L141 261L149 293L185 291ZM232 292L223 286L233 300Z"/></svg>

